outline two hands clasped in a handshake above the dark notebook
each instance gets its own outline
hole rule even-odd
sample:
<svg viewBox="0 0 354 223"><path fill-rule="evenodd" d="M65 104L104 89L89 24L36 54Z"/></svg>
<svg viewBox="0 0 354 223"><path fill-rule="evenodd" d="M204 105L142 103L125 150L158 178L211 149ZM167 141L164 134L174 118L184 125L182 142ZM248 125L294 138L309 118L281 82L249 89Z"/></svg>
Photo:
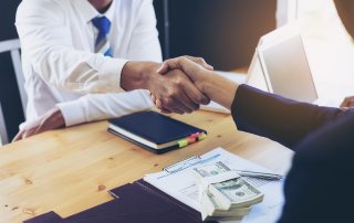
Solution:
<svg viewBox="0 0 354 223"><path fill-rule="evenodd" d="M128 68L134 65L134 62L126 64ZM138 66L138 64L136 65ZM180 56L167 60L163 65L152 64L152 67L156 68L157 66L158 70L157 72L155 70L154 74L149 65L145 65L146 74L142 75L145 77L136 82L133 79L124 82L122 78L122 86L125 89L145 88L150 91L154 103L164 114L190 114L198 110L200 105L208 105L210 100L230 109L238 85L214 73L214 67L208 65L204 59ZM134 83L135 86L129 83Z"/></svg>

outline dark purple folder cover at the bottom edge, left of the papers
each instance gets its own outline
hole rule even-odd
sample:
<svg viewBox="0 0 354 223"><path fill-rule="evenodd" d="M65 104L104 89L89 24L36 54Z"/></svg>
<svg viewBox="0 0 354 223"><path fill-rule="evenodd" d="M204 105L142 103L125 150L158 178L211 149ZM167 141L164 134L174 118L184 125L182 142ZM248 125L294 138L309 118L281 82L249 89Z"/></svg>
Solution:
<svg viewBox="0 0 354 223"><path fill-rule="evenodd" d="M144 183L144 182L142 182ZM111 190L111 194L116 198L113 201L100 204L72 216L59 221L46 219L48 214L37 216L30 223L200 223L200 213L197 214L180 208L178 201L170 199L160 191L150 190L144 184L134 182ZM167 195L167 197L166 197ZM177 205L175 204L177 202ZM187 206L188 209L191 209ZM54 212L52 212L54 213ZM55 213L54 213L55 214ZM59 216L60 217L60 216ZM28 223L28 221L25 222Z"/></svg>

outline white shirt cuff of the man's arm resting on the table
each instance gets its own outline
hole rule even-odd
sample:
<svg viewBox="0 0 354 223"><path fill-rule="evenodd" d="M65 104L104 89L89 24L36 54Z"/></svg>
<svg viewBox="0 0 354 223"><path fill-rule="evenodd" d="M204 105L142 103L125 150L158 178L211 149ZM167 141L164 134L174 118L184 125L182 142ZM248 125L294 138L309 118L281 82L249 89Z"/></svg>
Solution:
<svg viewBox="0 0 354 223"><path fill-rule="evenodd" d="M56 106L60 108L64 116L66 127L86 123L85 109L79 99L60 103L56 104Z"/></svg>

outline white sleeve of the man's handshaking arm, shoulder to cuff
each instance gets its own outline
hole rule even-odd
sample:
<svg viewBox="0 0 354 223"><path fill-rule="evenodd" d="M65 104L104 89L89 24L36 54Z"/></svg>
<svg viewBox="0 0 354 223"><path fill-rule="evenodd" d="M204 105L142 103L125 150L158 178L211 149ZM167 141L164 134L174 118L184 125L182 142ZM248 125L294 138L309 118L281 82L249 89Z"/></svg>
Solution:
<svg viewBox="0 0 354 223"><path fill-rule="evenodd" d="M126 60L77 51L65 26L65 9L55 1L23 0L15 25L22 56L51 86L75 93L118 93Z"/></svg>

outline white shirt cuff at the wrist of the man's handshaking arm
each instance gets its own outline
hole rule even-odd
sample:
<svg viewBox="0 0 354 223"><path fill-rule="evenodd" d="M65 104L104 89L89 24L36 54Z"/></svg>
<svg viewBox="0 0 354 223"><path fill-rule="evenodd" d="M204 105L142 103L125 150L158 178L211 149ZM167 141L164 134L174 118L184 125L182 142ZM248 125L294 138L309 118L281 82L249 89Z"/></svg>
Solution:
<svg viewBox="0 0 354 223"><path fill-rule="evenodd" d="M123 93L121 87L121 74L128 60L108 59L102 65L100 72L100 92L102 93Z"/></svg>

